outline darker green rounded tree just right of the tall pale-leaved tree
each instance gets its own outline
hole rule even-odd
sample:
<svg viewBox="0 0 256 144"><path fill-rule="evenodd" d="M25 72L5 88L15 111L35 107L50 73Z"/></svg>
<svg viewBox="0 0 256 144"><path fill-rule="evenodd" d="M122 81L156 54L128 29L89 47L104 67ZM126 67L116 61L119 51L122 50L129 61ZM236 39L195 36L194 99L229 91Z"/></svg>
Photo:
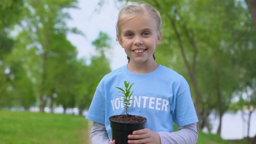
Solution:
<svg viewBox="0 0 256 144"><path fill-rule="evenodd" d="M75 46L62 33L54 35L51 40L55 41L51 42L55 45L51 46L52 49L47 59L45 94L50 99L52 111L55 102L62 105L64 111L66 111L66 108L75 107L75 80L78 71L77 52ZM61 46L61 49L59 49L59 46ZM55 96L57 97L55 98Z"/></svg>

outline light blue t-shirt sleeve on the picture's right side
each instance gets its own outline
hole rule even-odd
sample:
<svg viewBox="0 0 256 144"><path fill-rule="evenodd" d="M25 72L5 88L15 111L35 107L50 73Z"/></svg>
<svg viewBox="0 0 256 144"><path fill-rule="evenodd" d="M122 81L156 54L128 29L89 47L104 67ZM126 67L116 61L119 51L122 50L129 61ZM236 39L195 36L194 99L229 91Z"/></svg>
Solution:
<svg viewBox="0 0 256 144"><path fill-rule="evenodd" d="M198 122L190 88L185 79L181 82L180 87L177 92L174 109L174 123L179 127Z"/></svg>

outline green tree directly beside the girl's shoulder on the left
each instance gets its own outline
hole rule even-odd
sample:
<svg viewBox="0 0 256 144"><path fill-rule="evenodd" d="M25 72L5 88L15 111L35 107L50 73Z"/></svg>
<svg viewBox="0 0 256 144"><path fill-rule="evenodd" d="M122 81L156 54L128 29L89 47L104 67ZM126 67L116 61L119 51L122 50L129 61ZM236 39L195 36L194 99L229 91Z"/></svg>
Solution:
<svg viewBox="0 0 256 144"><path fill-rule="evenodd" d="M78 97L76 105L79 107L79 113L82 110L89 108L95 90L100 80L109 72L111 72L109 59L106 57L106 52L111 49L111 38L107 33L99 32L98 37L92 42L95 46L96 55L91 56L90 64L85 65L85 60L80 59L77 91ZM83 79L81 79L81 77Z"/></svg>

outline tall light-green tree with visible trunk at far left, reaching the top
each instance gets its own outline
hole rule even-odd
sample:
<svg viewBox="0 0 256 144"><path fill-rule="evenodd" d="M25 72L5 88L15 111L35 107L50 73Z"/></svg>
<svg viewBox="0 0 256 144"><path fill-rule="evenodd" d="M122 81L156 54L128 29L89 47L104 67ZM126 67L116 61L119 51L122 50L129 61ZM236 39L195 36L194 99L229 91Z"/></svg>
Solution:
<svg viewBox="0 0 256 144"><path fill-rule="evenodd" d="M20 36L23 35L24 37L20 38L26 43L26 48L35 49L34 55L40 57L36 66L37 72L30 69L35 74L33 77L36 78L36 85L39 87L37 90L40 111L43 111L46 105L47 94L54 89L47 87L47 83L50 81L49 78L52 78L50 75L56 73L49 71L49 64L51 63L49 59L60 54L56 53L59 52L56 49L61 49L67 41L66 38L62 38L66 36L66 33L78 32L76 29L70 29L66 26L65 20L70 19L70 16L63 9L76 8L76 5L76 0L26 1L25 17L20 23ZM64 43L62 43L63 41L56 43L58 36L62 36L61 41L64 40ZM26 39L29 39L29 41ZM65 52L68 55L71 51Z"/></svg>

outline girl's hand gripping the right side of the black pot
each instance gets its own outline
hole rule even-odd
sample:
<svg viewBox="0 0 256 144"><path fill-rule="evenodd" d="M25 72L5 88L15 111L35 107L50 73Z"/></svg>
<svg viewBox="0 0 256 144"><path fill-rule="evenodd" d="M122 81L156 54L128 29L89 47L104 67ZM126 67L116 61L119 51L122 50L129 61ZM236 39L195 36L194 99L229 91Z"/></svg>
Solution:
<svg viewBox="0 0 256 144"><path fill-rule="evenodd" d="M159 134L148 128L133 131L132 134L128 135L128 139L135 139L128 140L128 144L161 144Z"/></svg>

